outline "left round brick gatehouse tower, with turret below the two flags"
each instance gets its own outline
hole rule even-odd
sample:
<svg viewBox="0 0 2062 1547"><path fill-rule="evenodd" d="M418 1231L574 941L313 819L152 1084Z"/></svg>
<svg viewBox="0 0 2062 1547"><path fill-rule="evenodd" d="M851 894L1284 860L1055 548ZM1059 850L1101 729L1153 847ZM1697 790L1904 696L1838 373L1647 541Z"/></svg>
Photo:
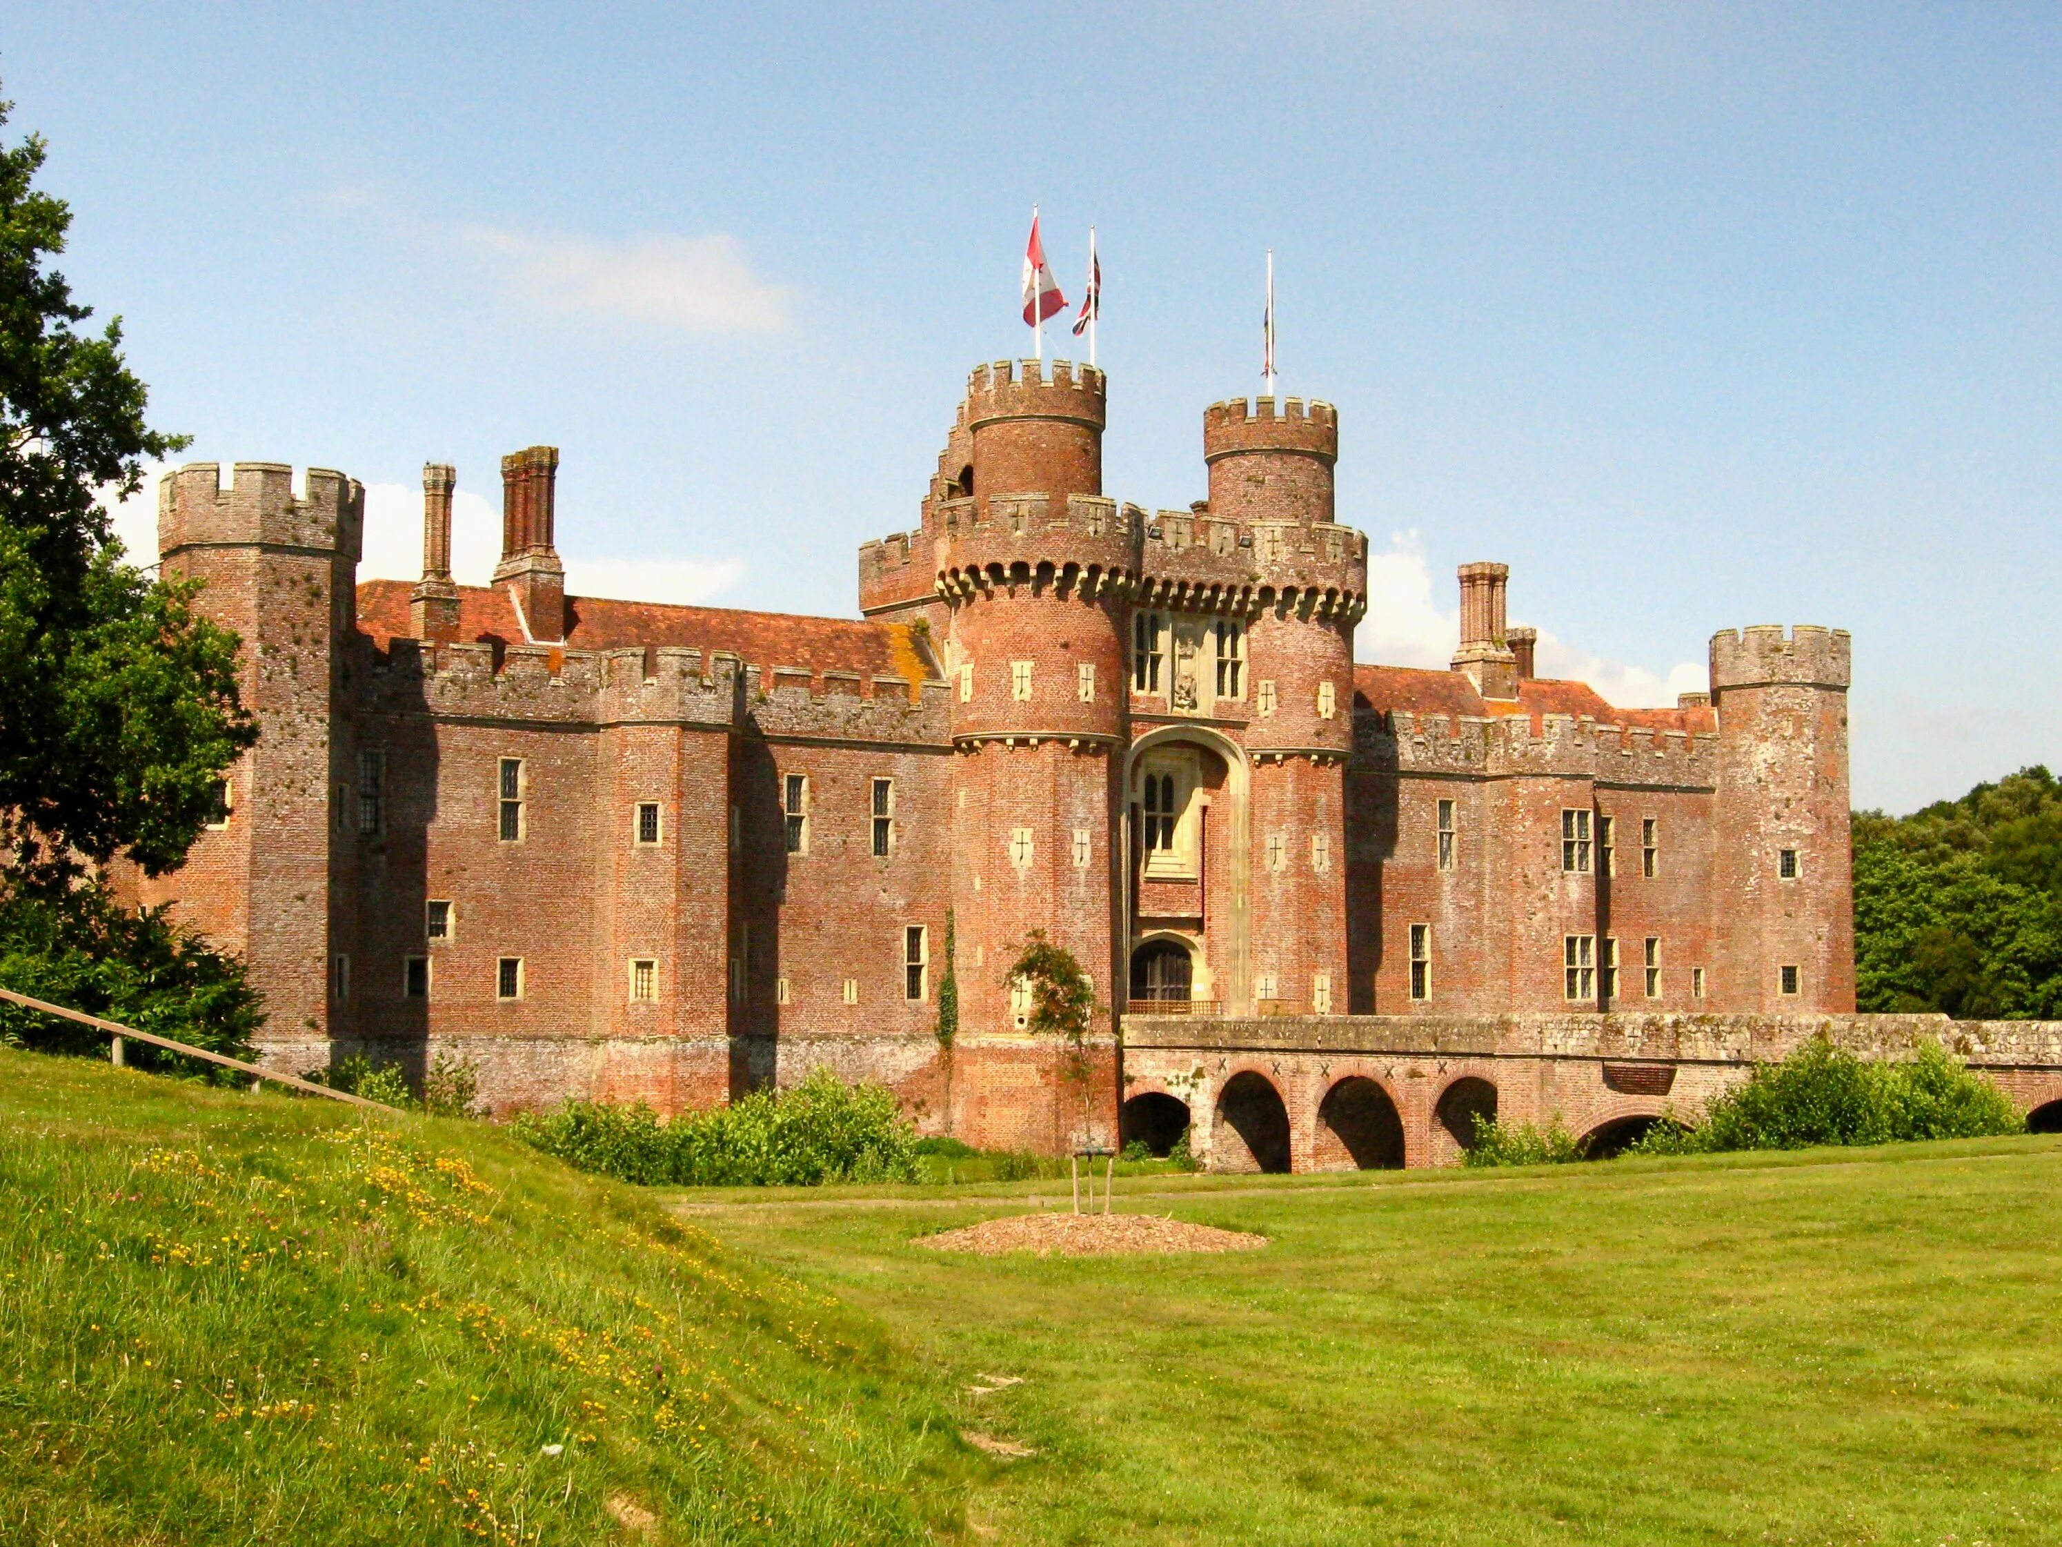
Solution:
<svg viewBox="0 0 2062 1547"><path fill-rule="evenodd" d="M1085 1116L1083 1087L1060 1077L1050 1040L1029 1038L1006 982L1031 928L1074 953L1099 1007L1116 982L1111 833L1138 536L1101 497L1103 423L1103 373L1091 367L973 371L973 507L934 549L951 606L957 786L953 1122L977 1145L1116 1134L1107 1009Z"/></svg>

